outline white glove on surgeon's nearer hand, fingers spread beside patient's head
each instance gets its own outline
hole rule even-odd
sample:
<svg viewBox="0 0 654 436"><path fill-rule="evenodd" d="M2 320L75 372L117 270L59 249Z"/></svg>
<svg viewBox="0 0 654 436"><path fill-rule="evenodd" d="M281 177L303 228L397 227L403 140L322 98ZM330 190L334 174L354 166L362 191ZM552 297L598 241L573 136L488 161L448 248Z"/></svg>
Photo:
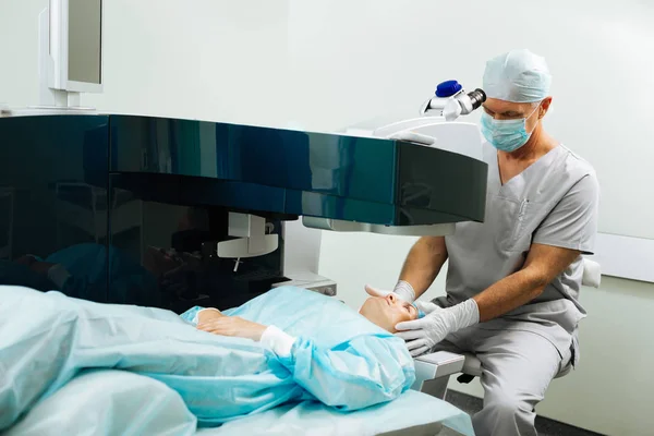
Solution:
<svg viewBox="0 0 654 436"><path fill-rule="evenodd" d="M400 330L396 336L407 341L407 348L414 358L429 351L449 334L480 322L480 308L472 299L447 308L434 303L420 302L416 305L427 315L396 326Z"/></svg>

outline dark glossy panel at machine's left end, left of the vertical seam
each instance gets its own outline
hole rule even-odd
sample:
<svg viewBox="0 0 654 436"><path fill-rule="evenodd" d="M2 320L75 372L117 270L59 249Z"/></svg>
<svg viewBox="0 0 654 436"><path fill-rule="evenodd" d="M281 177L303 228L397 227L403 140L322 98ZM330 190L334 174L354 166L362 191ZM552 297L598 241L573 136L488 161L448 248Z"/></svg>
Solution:
<svg viewBox="0 0 654 436"><path fill-rule="evenodd" d="M0 118L2 284L110 300L108 122L108 117Z"/></svg>

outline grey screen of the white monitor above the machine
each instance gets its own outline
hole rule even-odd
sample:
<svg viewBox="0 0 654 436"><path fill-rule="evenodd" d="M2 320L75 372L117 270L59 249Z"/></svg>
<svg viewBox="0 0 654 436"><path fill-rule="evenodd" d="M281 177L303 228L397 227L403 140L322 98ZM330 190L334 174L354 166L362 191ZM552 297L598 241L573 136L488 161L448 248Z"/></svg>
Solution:
<svg viewBox="0 0 654 436"><path fill-rule="evenodd" d="M102 0L69 0L68 80L101 84Z"/></svg>

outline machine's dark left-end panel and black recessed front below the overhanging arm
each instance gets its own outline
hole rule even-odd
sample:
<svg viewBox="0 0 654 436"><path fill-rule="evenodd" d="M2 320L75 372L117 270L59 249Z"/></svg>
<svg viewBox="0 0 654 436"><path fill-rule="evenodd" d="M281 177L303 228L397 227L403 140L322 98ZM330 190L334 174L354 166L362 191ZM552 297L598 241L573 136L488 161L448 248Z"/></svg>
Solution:
<svg viewBox="0 0 654 436"><path fill-rule="evenodd" d="M295 217L272 214L280 190L203 179L205 191L189 191L192 178L110 174L109 136L109 117L0 118L0 284L182 312L239 305L284 280L281 234L266 256L202 253L228 239L228 209L204 196L237 208L238 194L258 197L270 232L281 233L280 218Z"/></svg>

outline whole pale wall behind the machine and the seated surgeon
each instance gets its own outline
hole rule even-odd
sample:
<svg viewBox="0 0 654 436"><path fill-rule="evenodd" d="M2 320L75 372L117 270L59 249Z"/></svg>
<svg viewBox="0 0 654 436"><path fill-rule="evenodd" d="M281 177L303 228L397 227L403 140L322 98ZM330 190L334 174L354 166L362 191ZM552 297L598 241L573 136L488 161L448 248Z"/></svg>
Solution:
<svg viewBox="0 0 654 436"><path fill-rule="evenodd" d="M0 101L37 102L36 16L46 4L0 0ZM547 128L597 169L602 230L654 238L654 14L645 1L106 0L105 12L105 93L84 104L319 131L413 116L439 81L479 86L485 59L528 47L555 75ZM318 233L289 233L300 246L294 262L315 267L306 254ZM365 282L395 283L412 242L324 233L319 271L355 306ZM443 288L439 278L431 295ZM605 278L582 301L582 363L554 383L538 412L605 434L651 434L654 349L644 332L654 286Z"/></svg>

